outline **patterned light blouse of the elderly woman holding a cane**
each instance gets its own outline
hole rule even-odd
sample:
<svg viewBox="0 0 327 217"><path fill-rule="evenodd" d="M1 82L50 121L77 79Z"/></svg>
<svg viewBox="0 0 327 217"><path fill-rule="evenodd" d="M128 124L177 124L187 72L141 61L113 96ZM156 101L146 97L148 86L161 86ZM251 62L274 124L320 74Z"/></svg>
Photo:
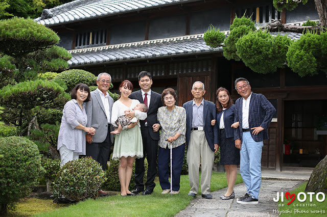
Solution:
<svg viewBox="0 0 327 217"><path fill-rule="evenodd" d="M186 111L185 108L175 106L173 111L169 111L167 106L159 107L157 119L161 126L159 146L167 148L169 144L166 141L169 137L173 137L177 132L181 135L177 140L172 142L173 148L176 148L186 142ZM169 148L169 147L168 147Z"/></svg>

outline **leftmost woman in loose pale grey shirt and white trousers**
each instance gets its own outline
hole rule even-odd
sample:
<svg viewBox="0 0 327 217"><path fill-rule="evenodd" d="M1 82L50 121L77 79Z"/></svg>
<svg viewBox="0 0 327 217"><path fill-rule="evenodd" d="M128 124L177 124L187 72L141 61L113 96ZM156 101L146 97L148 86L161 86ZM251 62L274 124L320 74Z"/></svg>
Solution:
<svg viewBox="0 0 327 217"><path fill-rule="evenodd" d="M57 149L60 153L60 167L66 162L85 155L85 133L95 134L96 130L86 127L87 116L83 102L91 99L90 89L85 84L78 84L71 93L62 111L61 124L58 135Z"/></svg>

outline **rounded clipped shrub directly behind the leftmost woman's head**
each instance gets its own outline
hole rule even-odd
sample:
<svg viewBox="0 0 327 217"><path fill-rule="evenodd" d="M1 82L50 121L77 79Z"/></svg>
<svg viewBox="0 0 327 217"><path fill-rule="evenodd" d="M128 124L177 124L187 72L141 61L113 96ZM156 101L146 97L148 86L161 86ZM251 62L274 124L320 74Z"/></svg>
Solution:
<svg viewBox="0 0 327 217"><path fill-rule="evenodd" d="M79 83L84 83L87 86L97 84L97 76L81 69L69 69L61 72L55 77L56 80L61 80L67 85L67 92L71 92L72 89Z"/></svg>

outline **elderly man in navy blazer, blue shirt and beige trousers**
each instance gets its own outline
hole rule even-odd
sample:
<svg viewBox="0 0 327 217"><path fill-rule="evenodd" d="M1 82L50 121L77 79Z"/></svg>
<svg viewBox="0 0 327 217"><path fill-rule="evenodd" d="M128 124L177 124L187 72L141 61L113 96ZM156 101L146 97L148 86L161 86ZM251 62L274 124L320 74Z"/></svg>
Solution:
<svg viewBox="0 0 327 217"><path fill-rule="evenodd" d="M188 195L195 197L199 188L199 168L201 162L201 193L205 199L212 199L210 194L211 174L218 150L217 124L211 125L216 119L216 105L203 99L204 84L195 82L192 86L194 99L183 104L186 110L186 160L189 166L191 189Z"/></svg>

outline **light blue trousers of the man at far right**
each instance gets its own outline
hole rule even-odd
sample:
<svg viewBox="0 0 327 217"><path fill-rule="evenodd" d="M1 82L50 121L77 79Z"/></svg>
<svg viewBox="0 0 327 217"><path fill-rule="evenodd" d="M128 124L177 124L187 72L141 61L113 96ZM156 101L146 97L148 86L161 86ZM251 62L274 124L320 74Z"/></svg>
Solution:
<svg viewBox="0 0 327 217"><path fill-rule="evenodd" d="M258 199L261 187L261 155L263 141L255 142L251 132L243 132L243 141L240 151L240 172L246 191L254 199Z"/></svg>

